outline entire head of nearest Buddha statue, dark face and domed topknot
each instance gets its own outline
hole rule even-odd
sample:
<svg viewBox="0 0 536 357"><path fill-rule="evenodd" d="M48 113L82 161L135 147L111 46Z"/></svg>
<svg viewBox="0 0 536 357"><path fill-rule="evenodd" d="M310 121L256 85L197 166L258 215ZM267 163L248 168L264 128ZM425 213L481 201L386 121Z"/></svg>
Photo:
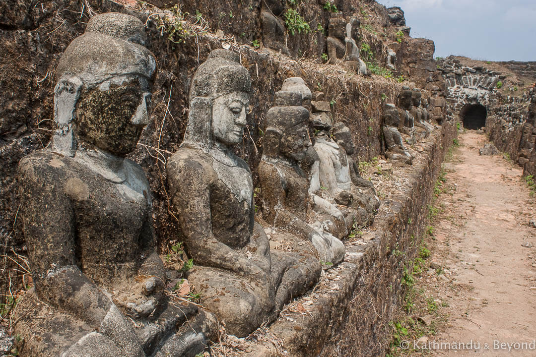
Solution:
<svg viewBox="0 0 536 357"><path fill-rule="evenodd" d="M69 44L56 69L54 151L73 156L73 134L118 156L136 148L156 71L145 39L139 19L105 13L92 17Z"/></svg>

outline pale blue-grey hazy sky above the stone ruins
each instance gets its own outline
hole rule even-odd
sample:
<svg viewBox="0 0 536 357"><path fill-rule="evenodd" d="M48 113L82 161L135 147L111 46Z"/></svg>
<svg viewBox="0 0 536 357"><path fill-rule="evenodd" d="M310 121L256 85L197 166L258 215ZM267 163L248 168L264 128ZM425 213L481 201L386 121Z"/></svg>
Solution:
<svg viewBox="0 0 536 357"><path fill-rule="evenodd" d="M377 0L400 6L412 37L435 42L434 57L536 61L536 0Z"/></svg>

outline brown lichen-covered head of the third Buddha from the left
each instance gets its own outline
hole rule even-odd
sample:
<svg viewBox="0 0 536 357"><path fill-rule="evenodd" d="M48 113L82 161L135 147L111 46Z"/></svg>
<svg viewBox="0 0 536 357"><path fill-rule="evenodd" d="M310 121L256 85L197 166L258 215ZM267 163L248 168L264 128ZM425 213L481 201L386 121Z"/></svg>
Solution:
<svg viewBox="0 0 536 357"><path fill-rule="evenodd" d="M307 122L309 111L301 106L299 92L277 92L274 106L266 113L264 153L301 161L311 146Z"/></svg>

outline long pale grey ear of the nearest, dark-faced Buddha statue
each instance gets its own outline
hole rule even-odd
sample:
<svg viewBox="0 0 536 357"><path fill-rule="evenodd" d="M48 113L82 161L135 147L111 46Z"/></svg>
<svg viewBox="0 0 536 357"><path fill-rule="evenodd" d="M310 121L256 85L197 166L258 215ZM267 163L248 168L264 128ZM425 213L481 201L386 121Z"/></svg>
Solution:
<svg viewBox="0 0 536 357"><path fill-rule="evenodd" d="M81 87L82 81L78 77L68 76L60 79L54 88L56 131L51 149L66 156L75 156L76 142L72 125Z"/></svg>

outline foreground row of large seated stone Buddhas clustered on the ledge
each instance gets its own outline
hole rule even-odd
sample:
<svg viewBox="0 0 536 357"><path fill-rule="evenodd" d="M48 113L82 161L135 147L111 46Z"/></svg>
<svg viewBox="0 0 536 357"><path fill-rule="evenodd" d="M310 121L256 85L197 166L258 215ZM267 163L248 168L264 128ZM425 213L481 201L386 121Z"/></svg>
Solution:
<svg viewBox="0 0 536 357"><path fill-rule="evenodd" d="M348 156L347 127L316 116L311 147L315 105L303 80L290 78L266 115L260 225L251 171L232 150L246 124L250 75L237 54L213 50L193 76L184 140L166 165L195 263L188 280L204 308L170 299L150 187L125 158L148 121L156 60L145 40L134 17L92 17L57 67L50 148L19 164L34 276L17 308L27 355L194 356L215 340L217 320L248 335L342 261L343 240L378 209L373 185Z"/></svg>

